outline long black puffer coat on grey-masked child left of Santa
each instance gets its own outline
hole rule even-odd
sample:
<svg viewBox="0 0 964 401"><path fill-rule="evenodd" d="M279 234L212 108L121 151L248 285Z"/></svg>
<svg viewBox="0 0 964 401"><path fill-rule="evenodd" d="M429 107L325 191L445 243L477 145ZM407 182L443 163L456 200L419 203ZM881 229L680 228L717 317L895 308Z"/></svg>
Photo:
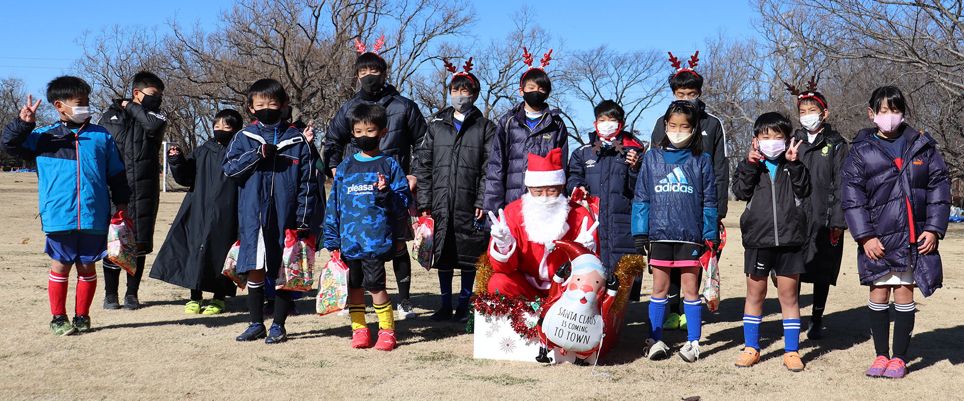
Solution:
<svg viewBox="0 0 964 401"><path fill-rule="evenodd" d="M482 209L495 123L473 107L462 130L457 131L454 113L452 108L439 112L428 123L428 133L418 146L415 204L419 210L432 211L435 261L455 264L448 268L471 269L485 252L489 238L472 220L475 209ZM447 252L442 252L446 248ZM457 260L453 261L453 256Z"/></svg>

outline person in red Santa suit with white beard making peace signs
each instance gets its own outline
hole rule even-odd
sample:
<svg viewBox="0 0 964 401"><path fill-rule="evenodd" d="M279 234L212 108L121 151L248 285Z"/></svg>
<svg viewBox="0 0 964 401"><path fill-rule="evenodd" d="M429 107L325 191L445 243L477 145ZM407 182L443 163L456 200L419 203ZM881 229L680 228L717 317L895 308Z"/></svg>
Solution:
<svg viewBox="0 0 964 401"><path fill-rule="evenodd" d="M489 292L535 300L549 296L553 274L569 260L565 252L552 252L553 241L576 241L595 252L599 223L566 198L561 149L550 150L545 158L529 154L524 184L528 193L521 199L500 209L497 217L489 212L494 271Z"/></svg>

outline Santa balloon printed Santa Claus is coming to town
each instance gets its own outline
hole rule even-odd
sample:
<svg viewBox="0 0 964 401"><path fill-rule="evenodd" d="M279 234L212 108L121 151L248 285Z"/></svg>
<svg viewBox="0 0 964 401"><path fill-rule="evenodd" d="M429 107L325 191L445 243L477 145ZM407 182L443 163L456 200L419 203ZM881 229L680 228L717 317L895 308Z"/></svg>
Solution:
<svg viewBox="0 0 964 401"><path fill-rule="evenodd" d="M570 263L556 270L549 300L539 323L540 350L536 361L549 363L549 351L576 354L576 364L600 349L603 321L616 300L619 278L606 277L603 263L579 243L555 241L556 249L569 255Z"/></svg>

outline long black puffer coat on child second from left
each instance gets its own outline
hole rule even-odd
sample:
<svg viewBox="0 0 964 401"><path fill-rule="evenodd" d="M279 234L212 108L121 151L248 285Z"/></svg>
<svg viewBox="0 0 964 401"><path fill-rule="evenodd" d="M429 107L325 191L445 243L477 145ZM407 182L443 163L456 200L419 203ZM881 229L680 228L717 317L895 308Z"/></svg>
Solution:
<svg viewBox="0 0 964 401"><path fill-rule="evenodd" d="M125 108L120 107L123 101L128 102ZM134 238L141 247L139 254L147 255L154 247L154 220L161 192L161 142L168 117L149 112L131 99L114 99L96 124L106 128L118 144L131 189L127 209L134 221Z"/></svg>

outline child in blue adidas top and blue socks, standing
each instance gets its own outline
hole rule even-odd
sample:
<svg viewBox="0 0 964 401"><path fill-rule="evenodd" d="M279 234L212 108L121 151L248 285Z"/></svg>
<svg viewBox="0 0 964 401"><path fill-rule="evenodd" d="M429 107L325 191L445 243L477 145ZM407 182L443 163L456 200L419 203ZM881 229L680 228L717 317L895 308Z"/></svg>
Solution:
<svg viewBox="0 0 964 401"><path fill-rule="evenodd" d="M650 338L644 355L651 360L669 356L662 341L670 270L682 273L686 343L680 357L700 358L703 301L700 299L700 257L718 247L716 184L710 155L703 152L699 112L685 100L669 105L663 117L666 136L643 156L632 204L632 235L640 255L649 254L653 266L650 298ZM649 248L649 249L647 249ZM647 252L648 251L648 252Z"/></svg>

